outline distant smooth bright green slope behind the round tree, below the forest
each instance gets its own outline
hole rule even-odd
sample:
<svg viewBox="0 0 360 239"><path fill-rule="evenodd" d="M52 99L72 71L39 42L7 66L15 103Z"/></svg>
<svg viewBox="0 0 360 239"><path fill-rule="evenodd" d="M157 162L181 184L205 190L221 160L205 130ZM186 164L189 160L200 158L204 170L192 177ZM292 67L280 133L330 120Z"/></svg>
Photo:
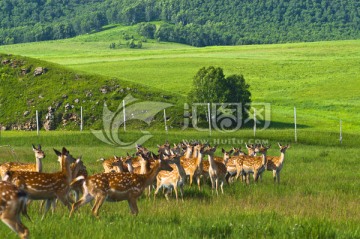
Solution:
<svg viewBox="0 0 360 239"><path fill-rule="evenodd" d="M56 63L73 74L92 74L98 78L90 81L96 88L103 82L99 79L139 84L180 97L179 105L185 103L196 72L218 66L225 75L243 74L254 102L271 104L273 127L292 127L296 106L303 126L338 131L342 119L345 131L360 129L354 113L360 102L360 41L205 48L148 41L142 49L109 48L111 42L124 41L124 32L135 35L135 29L117 26L67 40L1 46L0 52ZM47 82L49 88L59 83Z"/></svg>

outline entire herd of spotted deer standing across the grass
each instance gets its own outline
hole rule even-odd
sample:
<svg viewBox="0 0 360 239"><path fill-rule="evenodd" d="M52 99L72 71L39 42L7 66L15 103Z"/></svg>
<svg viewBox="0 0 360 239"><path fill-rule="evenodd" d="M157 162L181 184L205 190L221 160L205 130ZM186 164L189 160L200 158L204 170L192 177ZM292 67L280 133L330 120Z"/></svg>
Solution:
<svg viewBox="0 0 360 239"><path fill-rule="evenodd" d="M8 162L0 165L0 218L21 238L28 238L29 230L21 222L20 215L30 219L27 204L33 200L42 200L42 206L45 207L42 219L51 206L55 208L56 200L68 207L70 217L79 207L94 199L92 213L96 217L105 201L123 200L128 201L131 213L136 215L137 199L144 191L150 196L152 186L156 188L154 199L163 188L167 200L172 191L178 200L179 188L183 200L183 187L188 177L190 186L195 180L199 190L201 182L210 179L217 195L219 187L224 193L225 182L229 183L240 177L249 184L250 174L253 174L254 181L257 182L266 170L272 171L274 182L280 183L285 151L290 146L279 144L280 156L266 155L270 146L246 147L247 154L239 148L229 151L222 149L223 157L217 157L216 146L198 142L184 141L173 147L169 143L158 145L157 154L136 145L134 155L100 159L104 172L88 176L81 157L73 158L65 147L61 152L54 149L61 170L55 173L42 172L45 153L40 145L33 145L35 164Z"/></svg>

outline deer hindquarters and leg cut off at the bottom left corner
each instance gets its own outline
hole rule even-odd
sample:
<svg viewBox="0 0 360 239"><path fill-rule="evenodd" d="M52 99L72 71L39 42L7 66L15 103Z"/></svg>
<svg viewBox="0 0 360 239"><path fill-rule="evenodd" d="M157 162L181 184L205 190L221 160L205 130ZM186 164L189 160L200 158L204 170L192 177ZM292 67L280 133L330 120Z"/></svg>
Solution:
<svg viewBox="0 0 360 239"><path fill-rule="evenodd" d="M0 219L22 239L29 238L29 229L20 219L22 213L30 220L26 201L26 192L9 182L0 181Z"/></svg>

